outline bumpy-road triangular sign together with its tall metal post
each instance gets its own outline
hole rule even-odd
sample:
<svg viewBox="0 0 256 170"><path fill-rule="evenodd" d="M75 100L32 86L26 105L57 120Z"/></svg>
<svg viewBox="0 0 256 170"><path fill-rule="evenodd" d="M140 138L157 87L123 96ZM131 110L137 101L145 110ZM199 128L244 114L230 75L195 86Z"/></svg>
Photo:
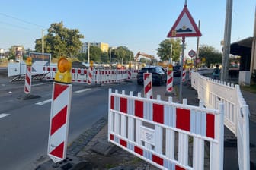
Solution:
<svg viewBox="0 0 256 170"><path fill-rule="evenodd" d="M181 69L183 68L184 60L184 49L185 49L185 37L186 36L202 36L197 24L194 22L193 17L187 9L187 1L178 19L175 21L173 27L169 31L167 37L182 37L182 55L181 55ZM182 74L180 80L180 92L179 92L179 102L182 100Z"/></svg>

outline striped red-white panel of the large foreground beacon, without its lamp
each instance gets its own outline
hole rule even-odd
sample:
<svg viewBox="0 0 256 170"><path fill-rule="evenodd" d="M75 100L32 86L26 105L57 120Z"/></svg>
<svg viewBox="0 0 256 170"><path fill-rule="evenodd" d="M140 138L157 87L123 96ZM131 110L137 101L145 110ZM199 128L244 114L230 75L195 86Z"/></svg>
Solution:
<svg viewBox="0 0 256 170"><path fill-rule="evenodd" d="M48 140L48 156L53 159L53 162L60 162L66 158L71 94L71 84L53 83Z"/></svg>

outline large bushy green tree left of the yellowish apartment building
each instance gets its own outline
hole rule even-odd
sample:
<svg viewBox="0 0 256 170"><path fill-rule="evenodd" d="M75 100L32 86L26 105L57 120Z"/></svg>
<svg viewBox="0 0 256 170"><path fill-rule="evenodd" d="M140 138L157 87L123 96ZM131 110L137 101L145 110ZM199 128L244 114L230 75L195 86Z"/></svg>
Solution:
<svg viewBox="0 0 256 170"><path fill-rule="evenodd" d="M74 57L78 55L79 50L82 48L80 39L84 38L79 34L77 29L68 29L63 26L63 23L53 23L47 30L48 34L44 36L44 52L51 53L53 58L60 56ZM41 52L42 39L36 39L35 49Z"/></svg>

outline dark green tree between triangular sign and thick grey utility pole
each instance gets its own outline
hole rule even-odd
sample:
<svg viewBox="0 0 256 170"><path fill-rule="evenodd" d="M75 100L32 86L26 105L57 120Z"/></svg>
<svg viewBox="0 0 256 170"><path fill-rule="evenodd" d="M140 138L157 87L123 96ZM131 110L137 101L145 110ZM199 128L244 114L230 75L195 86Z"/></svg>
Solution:
<svg viewBox="0 0 256 170"><path fill-rule="evenodd" d="M202 45L199 47L199 58L206 58L206 66L208 68L211 65L222 63L222 53L214 49L213 46Z"/></svg>

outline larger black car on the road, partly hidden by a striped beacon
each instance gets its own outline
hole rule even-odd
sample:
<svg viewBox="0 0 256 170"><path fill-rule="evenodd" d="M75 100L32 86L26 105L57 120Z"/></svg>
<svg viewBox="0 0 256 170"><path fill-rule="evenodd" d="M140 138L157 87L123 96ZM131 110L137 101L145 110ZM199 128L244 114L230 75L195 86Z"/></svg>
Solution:
<svg viewBox="0 0 256 170"><path fill-rule="evenodd" d="M137 83L140 85L143 83L143 73L152 73L152 83L157 84L159 86L162 85L162 83L165 83L167 80L167 73L165 68L162 68L161 66L147 66L145 68L142 68L139 73L137 74Z"/></svg>

